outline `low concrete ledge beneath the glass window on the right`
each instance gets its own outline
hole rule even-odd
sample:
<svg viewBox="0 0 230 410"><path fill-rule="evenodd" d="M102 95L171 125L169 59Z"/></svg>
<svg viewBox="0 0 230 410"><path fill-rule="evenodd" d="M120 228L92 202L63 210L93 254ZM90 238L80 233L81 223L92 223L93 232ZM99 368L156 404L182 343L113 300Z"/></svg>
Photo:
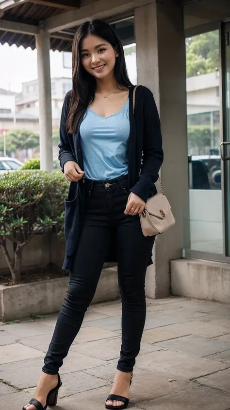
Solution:
<svg viewBox="0 0 230 410"><path fill-rule="evenodd" d="M171 261L171 292L230 303L230 264L196 259Z"/></svg>

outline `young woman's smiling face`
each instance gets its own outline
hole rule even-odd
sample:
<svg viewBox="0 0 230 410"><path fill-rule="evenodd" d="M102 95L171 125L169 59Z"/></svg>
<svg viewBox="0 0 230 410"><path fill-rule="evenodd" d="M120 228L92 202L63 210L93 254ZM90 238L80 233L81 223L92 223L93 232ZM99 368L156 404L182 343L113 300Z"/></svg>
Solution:
<svg viewBox="0 0 230 410"><path fill-rule="evenodd" d="M100 37L89 34L82 40L82 66L97 79L114 71L118 55L113 46Z"/></svg>

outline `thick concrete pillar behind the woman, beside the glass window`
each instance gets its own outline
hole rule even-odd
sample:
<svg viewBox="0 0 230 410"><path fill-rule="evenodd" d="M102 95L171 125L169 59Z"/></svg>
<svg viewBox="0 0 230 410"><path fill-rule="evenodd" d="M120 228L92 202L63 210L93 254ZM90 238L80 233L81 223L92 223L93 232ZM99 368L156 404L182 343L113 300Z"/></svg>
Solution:
<svg viewBox="0 0 230 410"><path fill-rule="evenodd" d="M170 294L169 261L181 257L189 234L185 38L182 9L172 0L135 0L138 84L154 94L159 109L164 145L161 169L164 193L176 225L156 238L154 265L148 267L146 294ZM154 130L153 130L154 138ZM185 232L185 238L184 238Z"/></svg>

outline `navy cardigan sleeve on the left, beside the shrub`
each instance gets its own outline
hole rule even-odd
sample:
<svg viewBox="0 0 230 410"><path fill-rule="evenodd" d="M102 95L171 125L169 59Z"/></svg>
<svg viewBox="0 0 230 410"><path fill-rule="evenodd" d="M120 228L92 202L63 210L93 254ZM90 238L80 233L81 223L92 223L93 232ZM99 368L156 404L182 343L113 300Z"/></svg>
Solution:
<svg viewBox="0 0 230 410"><path fill-rule="evenodd" d="M73 154L72 148L69 143L70 134L68 134L67 129L66 129L69 98L70 98L70 91L66 94L66 97L64 100L64 104L62 107L62 114L61 114L61 122L60 122L60 143L58 144L58 147L59 147L58 159L60 161L62 172L64 172L64 165L67 161L77 162L76 157Z"/></svg>

